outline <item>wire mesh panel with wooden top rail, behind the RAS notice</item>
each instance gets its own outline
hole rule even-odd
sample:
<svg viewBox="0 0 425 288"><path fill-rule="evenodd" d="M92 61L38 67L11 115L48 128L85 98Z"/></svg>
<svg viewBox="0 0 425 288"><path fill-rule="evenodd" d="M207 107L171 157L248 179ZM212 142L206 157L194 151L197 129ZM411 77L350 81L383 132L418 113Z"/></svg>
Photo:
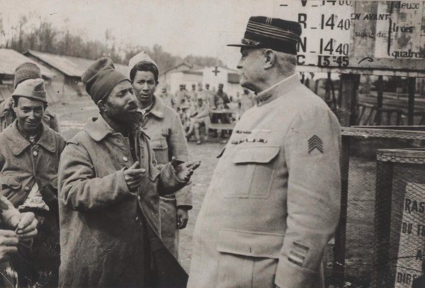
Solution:
<svg viewBox="0 0 425 288"><path fill-rule="evenodd" d="M373 270L378 149L412 148L425 127L344 127L341 149L341 214L336 229L331 281L368 287ZM405 130L402 130L405 129ZM410 130L412 129L412 130ZM416 130L416 131L414 131ZM329 270L327 271L329 275Z"/></svg>

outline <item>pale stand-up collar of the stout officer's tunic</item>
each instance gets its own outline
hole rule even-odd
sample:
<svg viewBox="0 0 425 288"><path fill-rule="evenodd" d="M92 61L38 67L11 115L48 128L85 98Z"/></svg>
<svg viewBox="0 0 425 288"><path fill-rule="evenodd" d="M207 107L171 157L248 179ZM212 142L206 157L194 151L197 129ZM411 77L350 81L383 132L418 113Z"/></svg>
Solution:
<svg viewBox="0 0 425 288"><path fill-rule="evenodd" d="M286 77L282 81L268 87L266 90L263 90L254 95L254 100L256 100L257 106L264 105L266 103L275 100L276 98L282 96L285 93L293 90L293 88L302 85L297 74L293 74L289 77Z"/></svg>

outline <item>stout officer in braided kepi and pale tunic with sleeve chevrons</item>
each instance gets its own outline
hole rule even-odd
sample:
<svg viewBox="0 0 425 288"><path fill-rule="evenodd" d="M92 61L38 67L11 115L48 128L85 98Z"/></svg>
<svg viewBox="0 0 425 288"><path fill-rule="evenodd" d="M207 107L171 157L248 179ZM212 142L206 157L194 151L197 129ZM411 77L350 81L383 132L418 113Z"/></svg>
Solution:
<svg viewBox="0 0 425 288"><path fill-rule="evenodd" d="M323 286L339 219L340 127L295 74L300 24L251 17L237 64L256 105L234 127L193 235L188 287Z"/></svg>

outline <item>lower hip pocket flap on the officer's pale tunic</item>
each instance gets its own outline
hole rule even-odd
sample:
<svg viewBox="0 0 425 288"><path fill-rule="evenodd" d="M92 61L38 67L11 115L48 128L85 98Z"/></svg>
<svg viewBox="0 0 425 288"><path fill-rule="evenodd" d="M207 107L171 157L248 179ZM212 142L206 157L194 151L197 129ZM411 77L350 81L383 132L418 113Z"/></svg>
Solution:
<svg viewBox="0 0 425 288"><path fill-rule="evenodd" d="M279 258L283 234L220 229L217 250L252 257Z"/></svg>

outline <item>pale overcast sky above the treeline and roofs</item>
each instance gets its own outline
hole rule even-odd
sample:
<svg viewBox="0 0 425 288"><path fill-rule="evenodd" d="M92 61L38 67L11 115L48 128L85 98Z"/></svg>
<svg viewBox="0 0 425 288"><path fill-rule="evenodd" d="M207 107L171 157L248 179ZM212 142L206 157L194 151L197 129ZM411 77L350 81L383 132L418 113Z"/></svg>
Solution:
<svg viewBox="0 0 425 288"><path fill-rule="evenodd" d="M186 57L219 57L236 67L239 42L249 16L273 16L273 0L0 0L0 13L17 21L35 11L58 28L69 18L69 29L96 40L111 29L117 43L131 42Z"/></svg>

